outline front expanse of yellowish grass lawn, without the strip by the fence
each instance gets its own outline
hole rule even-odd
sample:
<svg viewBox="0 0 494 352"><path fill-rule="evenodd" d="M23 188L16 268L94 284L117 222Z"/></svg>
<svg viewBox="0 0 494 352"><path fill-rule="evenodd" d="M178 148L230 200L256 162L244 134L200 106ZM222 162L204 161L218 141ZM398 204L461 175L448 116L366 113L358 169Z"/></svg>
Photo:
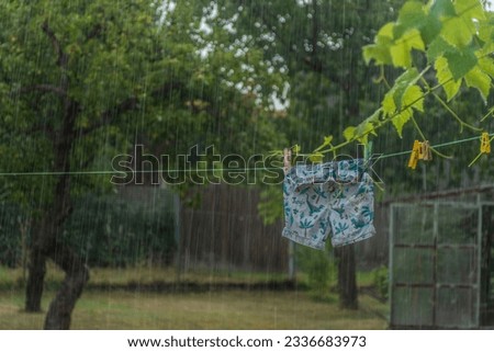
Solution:
<svg viewBox="0 0 494 352"><path fill-rule="evenodd" d="M43 300L46 310L55 292ZM0 329L42 329L44 314L22 311L22 292L0 293ZM72 329L385 329L386 305L360 297L359 310L317 302L307 292L224 291L189 294L88 292Z"/></svg>

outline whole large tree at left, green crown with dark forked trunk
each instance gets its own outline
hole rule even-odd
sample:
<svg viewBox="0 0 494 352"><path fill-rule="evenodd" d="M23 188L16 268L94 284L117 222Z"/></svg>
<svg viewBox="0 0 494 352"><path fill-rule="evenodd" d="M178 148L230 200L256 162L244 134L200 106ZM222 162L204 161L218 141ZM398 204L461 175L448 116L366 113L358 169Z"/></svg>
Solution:
<svg viewBox="0 0 494 352"><path fill-rule="evenodd" d="M41 309L47 258L66 273L46 329L69 328L89 279L83 259L63 238L72 198L111 188L109 178L81 178L79 171L106 170L115 154L138 143L173 156L195 144L247 152L273 140L269 112L261 106L272 84L254 95L237 83L276 75L256 68L243 73L243 59L227 45L204 56L201 16L193 15L191 3L166 11L160 5L150 0L0 4L1 151L8 156L2 170L48 173L4 178L4 198L22 203L33 216L26 310ZM245 129L237 129L239 124Z"/></svg>

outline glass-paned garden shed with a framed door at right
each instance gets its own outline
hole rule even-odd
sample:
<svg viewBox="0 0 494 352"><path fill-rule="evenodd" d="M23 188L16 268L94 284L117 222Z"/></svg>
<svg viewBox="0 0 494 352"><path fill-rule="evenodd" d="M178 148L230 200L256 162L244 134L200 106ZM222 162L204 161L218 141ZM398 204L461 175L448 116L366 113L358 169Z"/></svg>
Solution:
<svg viewBox="0 0 494 352"><path fill-rule="evenodd" d="M390 327L494 326L494 185L390 207Z"/></svg>

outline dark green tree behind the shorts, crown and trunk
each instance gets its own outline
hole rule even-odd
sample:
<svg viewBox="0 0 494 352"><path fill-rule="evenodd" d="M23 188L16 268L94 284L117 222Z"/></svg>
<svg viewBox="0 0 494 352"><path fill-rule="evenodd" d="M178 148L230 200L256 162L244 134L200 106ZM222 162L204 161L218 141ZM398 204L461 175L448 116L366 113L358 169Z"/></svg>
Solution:
<svg viewBox="0 0 494 352"><path fill-rule="evenodd" d="M218 1L220 15L236 18L237 36L249 36L251 46L262 48L272 70L287 75L277 96L287 101L280 129L289 146L314 149L321 134L343 135L378 106L383 89L369 90L379 71L369 69L361 57L375 29L395 14L403 1ZM353 149L345 152L355 155ZM265 192L282 204L280 192ZM265 212L268 209L268 213ZM353 246L335 250L338 258L340 304L358 307Z"/></svg>

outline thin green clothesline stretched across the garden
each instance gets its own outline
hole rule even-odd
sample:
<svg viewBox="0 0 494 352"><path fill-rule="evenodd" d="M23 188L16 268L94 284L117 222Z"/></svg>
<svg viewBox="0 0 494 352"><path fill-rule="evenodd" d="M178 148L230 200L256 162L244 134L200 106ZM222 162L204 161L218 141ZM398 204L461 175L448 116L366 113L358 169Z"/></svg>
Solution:
<svg viewBox="0 0 494 352"><path fill-rule="evenodd" d="M494 133L489 134L491 139L494 138ZM437 145L431 145L431 148L439 149L444 147L449 147L453 145L459 145L468 141L479 140L479 136L469 137L459 140L450 140ZM411 150L391 152L391 154L382 154L379 155L379 159L394 158L404 155L408 155L412 152ZM205 168L205 169L159 169L159 170L133 170L132 173L154 173L154 172L167 172L167 173L184 173L184 172L240 172L240 171L274 171L280 170L282 167L252 167L252 168ZM23 175L102 175L102 174L121 174L126 173L126 171L116 171L116 170L87 170L87 171L22 171L22 172L0 172L0 177L23 177Z"/></svg>

